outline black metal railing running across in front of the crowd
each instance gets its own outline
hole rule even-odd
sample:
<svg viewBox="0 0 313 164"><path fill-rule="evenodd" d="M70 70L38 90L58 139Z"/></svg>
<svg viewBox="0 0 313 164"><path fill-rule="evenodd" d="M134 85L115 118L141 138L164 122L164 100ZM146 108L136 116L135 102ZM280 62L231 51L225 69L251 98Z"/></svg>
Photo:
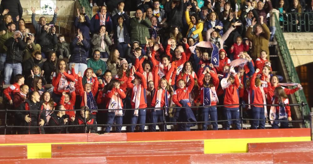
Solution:
<svg viewBox="0 0 313 164"><path fill-rule="evenodd" d="M239 105L239 115L240 118L239 119L225 119L225 120L211 120L211 121L195 121L195 122L167 122L166 120L166 116L164 113L167 109L176 109L176 108L206 108L206 107L228 107L228 106L233 106L233 105ZM137 125L158 125L160 126L164 126L164 129L166 128L167 125L177 125L177 124L189 124L189 123L195 123L195 124L199 124L199 123L212 123L212 122L225 122L225 121L234 121L234 120L239 120L240 124L241 124L241 129L243 130L243 122L244 120L259 120L259 121L269 121L267 118L265 119L251 119L251 118L244 118L244 114L243 114L243 110L244 110L244 106L247 105L263 105L263 104L232 104L232 105L212 105L212 106L191 106L191 107L163 107L163 122L156 122L156 123L144 123L144 124L122 124L122 125L117 125L117 124L97 124L96 126L137 126ZM304 117L304 113L302 110L302 108L307 105L306 103L302 102L301 104L288 104L288 105L284 105L284 104L271 104L271 105L266 105L268 107L270 106L301 106L301 111L302 111L302 119L301 120L274 120L274 121L280 121L280 122L292 122L292 123L302 123L302 125L305 125L305 123L310 122L310 119L306 119ZM139 110L154 110L156 108L145 108L145 109L139 109ZM82 109L77 109L77 110L65 110L65 111L81 111ZM98 111L103 111L103 110L114 110L114 109L98 109ZM119 109L117 109L119 110ZM124 111L126 110L134 110L134 109L123 109ZM222 109L223 110L223 109ZM252 109L251 109L252 110ZM8 125L7 120L8 120L8 113L9 112L15 112L15 111L19 111L21 112L21 110L11 110L11 109L6 109L6 110L0 110L1 112L5 112L5 125L4 126L0 126L1 128L4 128L4 134L6 134L7 128L40 128L40 127L44 127L44 128L52 128L52 127L73 127L73 126L85 126L85 133L86 131L86 127L87 126L95 126L95 125L88 125L86 118L84 117L84 124L81 125L61 125L61 126L14 126L14 125ZM22 112L43 112L43 111L49 111L51 112L51 110L25 110ZM84 110L86 112L86 109ZM182 110L180 111L182 112ZM175 114L175 113L174 113ZM87 132L88 133L88 132Z"/></svg>

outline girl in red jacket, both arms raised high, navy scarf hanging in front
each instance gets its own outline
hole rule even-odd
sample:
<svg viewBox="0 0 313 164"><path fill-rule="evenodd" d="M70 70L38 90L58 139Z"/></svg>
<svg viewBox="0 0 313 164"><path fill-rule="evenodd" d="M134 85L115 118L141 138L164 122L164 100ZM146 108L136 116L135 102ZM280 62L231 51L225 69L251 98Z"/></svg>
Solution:
<svg viewBox="0 0 313 164"><path fill-rule="evenodd" d="M82 84L82 78L81 73L78 73L78 90L81 97L81 103L80 106L87 106L91 110L91 114L96 114L97 109L97 103L95 101L95 95L98 92L98 78L96 78L96 74L93 73L92 77L95 77L95 86L93 89L91 89L91 85L89 83L86 83L83 87Z"/></svg>

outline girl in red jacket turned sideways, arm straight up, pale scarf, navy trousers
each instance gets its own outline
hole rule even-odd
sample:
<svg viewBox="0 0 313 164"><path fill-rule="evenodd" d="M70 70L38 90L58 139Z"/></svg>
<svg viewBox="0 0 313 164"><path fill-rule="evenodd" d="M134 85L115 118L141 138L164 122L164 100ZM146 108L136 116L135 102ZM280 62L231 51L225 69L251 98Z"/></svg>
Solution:
<svg viewBox="0 0 313 164"><path fill-rule="evenodd" d="M267 88L261 87L261 80L256 78L256 75L259 73L259 69L256 69L254 74L250 79L250 102L252 105L252 118L253 119L261 119L253 120L251 129L265 129L265 110L267 113L266 106L266 97L265 93L267 92ZM268 84L270 87L270 83ZM256 105L256 104L264 104L264 105Z"/></svg>

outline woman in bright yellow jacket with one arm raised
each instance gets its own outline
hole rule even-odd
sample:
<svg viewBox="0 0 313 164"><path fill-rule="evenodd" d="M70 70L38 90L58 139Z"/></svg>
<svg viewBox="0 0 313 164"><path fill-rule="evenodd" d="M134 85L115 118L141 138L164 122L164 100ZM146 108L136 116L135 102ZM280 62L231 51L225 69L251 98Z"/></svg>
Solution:
<svg viewBox="0 0 313 164"><path fill-rule="evenodd" d="M188 31L187 31L187 38L192 37L195 40L201 42L203 41L202 37L202 30L203 30L203 23L199 21L198 15L192 14L189 18L189 10L191 8L191 5L187 6L185 16L186 21L188 24Z"/></svg>

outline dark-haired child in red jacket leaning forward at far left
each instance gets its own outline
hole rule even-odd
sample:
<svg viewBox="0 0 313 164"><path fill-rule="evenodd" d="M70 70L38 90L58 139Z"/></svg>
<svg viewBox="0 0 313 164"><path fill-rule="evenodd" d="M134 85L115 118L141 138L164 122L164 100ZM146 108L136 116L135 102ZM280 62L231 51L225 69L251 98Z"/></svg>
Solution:
<svg viewBox="0 0 313 164"><path fill-rule="evenodd" d="M24 84L25 78L22 74L17 74L14 77L14 84L10 85L8 88L3 90L3 94L5 97L9 100L9 104L13 104L13 100L11 96L13 96L14 93L20 92L20 86Z"/></svg>

